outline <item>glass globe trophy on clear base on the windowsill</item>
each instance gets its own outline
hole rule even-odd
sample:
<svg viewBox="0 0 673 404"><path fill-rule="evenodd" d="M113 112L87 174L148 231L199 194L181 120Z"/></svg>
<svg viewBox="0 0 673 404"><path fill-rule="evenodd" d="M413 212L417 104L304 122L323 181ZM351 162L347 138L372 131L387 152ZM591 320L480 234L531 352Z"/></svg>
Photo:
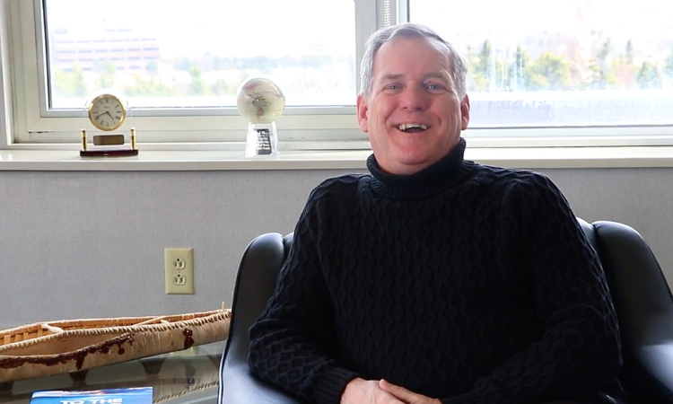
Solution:
<svg viewBox="0 0 673 404"><path fill-rule="evenodd" d="M267 78L250 78L240 84L236 104L240 115L249 120L245 156L277 156L275 119L283 114L285 108L285 96L280 87Z"/></svg>

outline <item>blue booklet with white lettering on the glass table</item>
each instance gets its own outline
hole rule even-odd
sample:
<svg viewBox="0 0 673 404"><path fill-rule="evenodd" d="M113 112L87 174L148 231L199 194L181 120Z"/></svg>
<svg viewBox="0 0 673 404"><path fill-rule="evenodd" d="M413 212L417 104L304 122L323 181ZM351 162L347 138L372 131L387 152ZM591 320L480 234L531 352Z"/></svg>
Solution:
<svg viewBox="0 0 673 404"><path fill-rule="evenodd" d="M91 391L35 391L31 404L152 404L152 387Z"/></svg>

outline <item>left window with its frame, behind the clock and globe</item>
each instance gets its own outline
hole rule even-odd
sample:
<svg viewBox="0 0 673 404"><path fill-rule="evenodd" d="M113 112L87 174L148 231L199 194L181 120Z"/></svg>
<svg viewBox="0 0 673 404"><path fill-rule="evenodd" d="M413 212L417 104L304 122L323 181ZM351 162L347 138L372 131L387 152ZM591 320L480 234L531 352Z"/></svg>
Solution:
<svg viewBox="0 0 673 404"><path fill-rule="evenodd" d="M356 52L363 45L356 34L375 27L369 3L119 0L101 13L88 0L10 2L10 18L21 22L11 28L14 55L22 59L14 69L17 92L25 100L14 137L69 141L86 125L85 100L104 84L126 96L129 123L144 142L242 142L246 122L235 95L244 80L264 75L284 90L278 127L285 140L362 141L354 119ZM31 41L34 54L19 52ZM92 50L91 72L60 65L66 43ZM140 70L130 71L137 60L131 57L142 57Z"/></svg>

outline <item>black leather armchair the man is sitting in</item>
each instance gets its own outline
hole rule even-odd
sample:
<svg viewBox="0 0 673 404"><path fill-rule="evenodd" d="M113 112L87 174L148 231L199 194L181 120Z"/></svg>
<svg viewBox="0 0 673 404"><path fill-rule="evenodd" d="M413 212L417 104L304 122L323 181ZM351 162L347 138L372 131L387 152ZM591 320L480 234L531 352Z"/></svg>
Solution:
<svg viewBox="0 0 673 404"><path fill-rule="evenodd" d="M632 404L673 403L673 297L657 259L633 228L578 219L598 251L622 333L620 380ZM267 233L250 242L240 262L232 323L220 365L221 404L298 404L255 378L248 367L248 329L273 294L293 234Z"/></svg>

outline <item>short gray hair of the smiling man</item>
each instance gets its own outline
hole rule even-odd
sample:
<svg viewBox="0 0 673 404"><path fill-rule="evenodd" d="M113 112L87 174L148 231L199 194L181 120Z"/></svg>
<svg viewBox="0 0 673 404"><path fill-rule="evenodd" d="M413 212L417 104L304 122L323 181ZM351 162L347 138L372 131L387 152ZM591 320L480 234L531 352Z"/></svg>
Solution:
<svg viewBox="0 0 673 404"><path fill-rule="evenodd" d="M390 25L371 34L364 50L363 62L360 68L360 92L365 98L369 99L371 95L371 85L374 74L374 56L384 43L397 37L402 38L424 38L439 44L446 48L447 54L453 61L453 81L456 85L459 99L462 100L468 91L468 64L460 56L453 46L442 39L435 31L430 28L413 22L406 22L399 25Z"/></svg>

